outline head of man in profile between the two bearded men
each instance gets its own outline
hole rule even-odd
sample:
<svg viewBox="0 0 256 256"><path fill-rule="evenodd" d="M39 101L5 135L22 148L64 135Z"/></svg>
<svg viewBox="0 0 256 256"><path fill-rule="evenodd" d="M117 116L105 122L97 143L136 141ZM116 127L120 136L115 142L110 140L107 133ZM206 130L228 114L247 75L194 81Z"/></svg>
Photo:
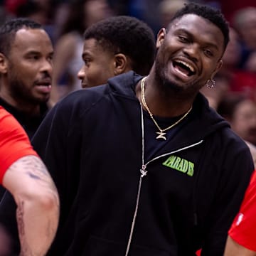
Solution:
<svg viewBox="0 0 256 256"><path fill-rule="evenodd" d="M78 72L82 87L105 84L114 75L130 70L147 75L154 63L154 33L134 17L114 16L99 21L87 28L84 40L84 65Z"/></svg>

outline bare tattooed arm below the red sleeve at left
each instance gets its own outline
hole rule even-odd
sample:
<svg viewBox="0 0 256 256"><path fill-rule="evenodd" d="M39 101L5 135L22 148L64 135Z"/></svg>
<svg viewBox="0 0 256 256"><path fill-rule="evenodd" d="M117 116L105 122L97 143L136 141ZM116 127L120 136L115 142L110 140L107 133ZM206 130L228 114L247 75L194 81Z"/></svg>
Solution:
<svg viewBox="0 0 256 256"><path fill-rule="evenodd" d="M58 227L59 198L38 156L23 156L4 175L3 185L17 204L21 255L46 255Z"/></svg>

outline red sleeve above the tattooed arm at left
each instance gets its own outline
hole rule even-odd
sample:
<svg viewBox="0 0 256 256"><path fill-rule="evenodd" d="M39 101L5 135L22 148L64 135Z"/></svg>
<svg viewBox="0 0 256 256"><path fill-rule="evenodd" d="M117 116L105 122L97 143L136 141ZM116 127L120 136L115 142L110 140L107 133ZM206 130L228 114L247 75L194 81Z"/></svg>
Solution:
<svg viewBox="0 0 256 256"><path fill-rule="evenodd" d="M0 184L9 166L22 156L36 155L18 121L0 107Z"/></svg>

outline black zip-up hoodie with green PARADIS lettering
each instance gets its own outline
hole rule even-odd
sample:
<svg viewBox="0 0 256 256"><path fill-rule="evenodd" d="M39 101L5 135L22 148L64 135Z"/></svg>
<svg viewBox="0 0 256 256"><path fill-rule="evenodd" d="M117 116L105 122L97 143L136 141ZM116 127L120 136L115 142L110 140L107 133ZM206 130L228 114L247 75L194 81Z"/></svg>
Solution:
<svg viewBox="0 0 256 256"><path fill-rule="evenodd" d="M141 78L129 72L73 92L39 127L33 146L61 206L48 255L189 256L201 247L223 255L253 170L250 151L198 94L186 124L143 163Z"/></svg>

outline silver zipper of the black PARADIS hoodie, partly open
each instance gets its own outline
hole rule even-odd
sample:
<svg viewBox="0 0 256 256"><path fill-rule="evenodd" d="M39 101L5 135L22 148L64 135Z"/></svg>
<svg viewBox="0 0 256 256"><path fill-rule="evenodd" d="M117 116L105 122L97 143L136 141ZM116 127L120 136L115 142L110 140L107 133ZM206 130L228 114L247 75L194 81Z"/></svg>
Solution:
<svg viewBox="0 0 256 256"><path fill-rule="evenodd" d="M138 186L138 189L137 189L136 206L135 206L134 215L133 215L133 218L132 218L132 226L131 226L131 230L130 230L130 233L129 233L129 239L128 239L128 242L127 242L127 249L126 249L126 252L125 252L125 256L128 256L129 249L130 249L131 242L132 242L132 235L134 233L134 225L135 225L135 222L136 222L137 212L138 212L138 208L139 208L139 197L140 197L141 188L142 188L142 178L144 178L147 174L146 166L148 166L148 164L150 164L152 161L155 161L156 159L160 159L161 157L168 156L169 154L174 154L178 151L189 149L189 148L191 148L193 146L197 146L198 144L201 144L203 142L203 139L202 139L199 142L196 142L196 143L191 144L189 146L185 146L181 149L177 149L177 150L171 151L169 153L162 154L160 156L156 156L153 159L147 161L146 164L144 164L144 151L145 151L145 148L144 148L144 146L145 146L144 145L144 116L143 116L143 109L142 109L142 104L141 103L140 103L140 109L141 109L141 122L142 122L142 168L139 170L140 171L140 176L139 176L139 186Z"/></svg>

